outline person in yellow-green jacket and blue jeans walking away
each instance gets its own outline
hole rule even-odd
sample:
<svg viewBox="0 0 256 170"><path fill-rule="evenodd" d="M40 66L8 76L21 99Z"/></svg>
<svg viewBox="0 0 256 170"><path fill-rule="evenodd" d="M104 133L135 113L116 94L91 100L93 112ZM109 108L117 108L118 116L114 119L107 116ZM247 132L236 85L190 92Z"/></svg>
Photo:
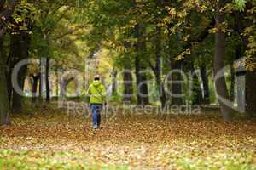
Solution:
<svg viewBox="0 0 256 170"><path fill-rule="evenodd" d="M106 103L106 88L102 84L100 77L96 75L90 84L87 95L90 97L90 110L92 111L92 126L94 129L101 126L101 112Z"/></svg>

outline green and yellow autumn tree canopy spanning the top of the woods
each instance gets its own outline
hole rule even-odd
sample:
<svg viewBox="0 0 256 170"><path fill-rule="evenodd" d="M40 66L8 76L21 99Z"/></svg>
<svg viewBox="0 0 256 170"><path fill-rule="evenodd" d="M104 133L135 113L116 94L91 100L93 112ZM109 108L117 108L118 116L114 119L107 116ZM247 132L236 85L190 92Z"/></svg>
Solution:
<svg viewBox="0 0 256 170"><path fill-rule="evenodd" d="M223 2L220 11L224 22L220 28L226 34L225 64L233 63L237 58L236 48L241 47L242 55L247 56L247 70L253 71L256 68L255 1ZM215 50L212 34L218 31L214 27L217 8L218 1L210 0L24 0L16 6L9 30L30 33L30 56L55 59L54 70L61 67L64 71L83 71L84 59L90 57L101 60L90 75L100 72L109 77L109 70L113 68L134 71L137 56L143 69L154 70L159 55L163 60L162 77L172 70L173 60L182 61L184 71L191 70L190 65L195 68L206 65L211 73ZM236 14L241 14L241 25L244 25L241 32L236 28ZM157 40L159 28L160 40ZM139 43L145 47L137 49ZM8 53L8 49L4 51ZM94 55L101 51L99 56ZM110 82L109 79L106 82Z"/></svg>

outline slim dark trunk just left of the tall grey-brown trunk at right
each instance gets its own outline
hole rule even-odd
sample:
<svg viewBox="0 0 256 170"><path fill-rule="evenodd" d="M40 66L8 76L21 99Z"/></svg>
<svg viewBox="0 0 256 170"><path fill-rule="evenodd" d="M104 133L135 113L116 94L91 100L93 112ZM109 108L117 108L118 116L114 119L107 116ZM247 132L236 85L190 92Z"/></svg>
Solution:
<svg viewBox="0 0 256 170"><path fill-rule="evenodd" d="M210 104L210 91L209 91L209 79L207 76L207 67L206 65L201 65L200 68L201 72L201 80L203 84L203 103L204 104Z"/></svg>

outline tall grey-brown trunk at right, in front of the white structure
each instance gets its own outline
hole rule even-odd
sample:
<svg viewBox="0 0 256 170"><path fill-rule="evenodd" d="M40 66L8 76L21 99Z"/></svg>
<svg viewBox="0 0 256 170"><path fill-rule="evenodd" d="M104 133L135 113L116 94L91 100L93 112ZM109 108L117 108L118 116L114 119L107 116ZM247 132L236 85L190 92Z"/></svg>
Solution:
<svg viewBox="0 0 256 170"><path fill-rule="evenodd" d="M231 121L232 109L227 105L224 100L229 101L230 96L228 93L227 84L225 82L224 72L224 52L225 52L225 35L224 32L219 28L220 24L223 22L223 16L218 11L216 16L216 27L218 27L218 32L215 35L215 55L214 55L214 77L215 77L215 87L218 94L218 102L221 106L221 112L223 114L224 121Z"/></svg>

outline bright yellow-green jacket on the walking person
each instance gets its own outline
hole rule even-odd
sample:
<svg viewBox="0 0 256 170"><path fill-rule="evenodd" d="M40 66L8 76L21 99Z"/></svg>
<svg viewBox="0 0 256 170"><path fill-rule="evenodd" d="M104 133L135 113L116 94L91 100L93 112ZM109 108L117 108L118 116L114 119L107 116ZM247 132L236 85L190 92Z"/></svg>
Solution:
<svg viewBox="0 0 256 170"><path fill-rule="evenodd" d="M100 81L93 81L88 90L87 96L90 97L90 104L104 104L106 102L106 88Z"/></svg>

